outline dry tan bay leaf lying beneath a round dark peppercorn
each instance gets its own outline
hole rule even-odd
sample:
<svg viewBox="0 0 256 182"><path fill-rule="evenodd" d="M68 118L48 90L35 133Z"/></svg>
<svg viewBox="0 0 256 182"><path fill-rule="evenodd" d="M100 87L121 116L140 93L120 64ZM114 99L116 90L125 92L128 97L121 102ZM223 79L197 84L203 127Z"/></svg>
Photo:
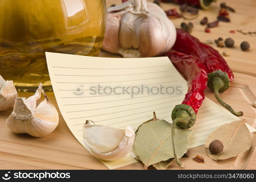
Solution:
<svg viewBox="0 0 256 182"><path fill-rule="evenodd" d="M223 151L211 154L209 145L212 141L219 140L223 143ZM251 147L251 135L244 120L223 124L212 132L205 141L206 153L213 160L223 160L235 157Z"/></svg>

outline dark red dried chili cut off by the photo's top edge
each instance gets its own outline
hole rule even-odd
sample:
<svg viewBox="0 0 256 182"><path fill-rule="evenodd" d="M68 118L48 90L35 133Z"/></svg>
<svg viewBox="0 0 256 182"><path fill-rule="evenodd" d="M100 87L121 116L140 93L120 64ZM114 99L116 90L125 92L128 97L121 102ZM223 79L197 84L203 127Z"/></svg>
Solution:
<svg viewBox="0 0 256 182"><path fill-rule="evenodd" d="M174 2L177 4L187 3L191 6L195 6L198 8L207 9L210 7L211 3L215 0L161 0L162 2Z"/></svg>

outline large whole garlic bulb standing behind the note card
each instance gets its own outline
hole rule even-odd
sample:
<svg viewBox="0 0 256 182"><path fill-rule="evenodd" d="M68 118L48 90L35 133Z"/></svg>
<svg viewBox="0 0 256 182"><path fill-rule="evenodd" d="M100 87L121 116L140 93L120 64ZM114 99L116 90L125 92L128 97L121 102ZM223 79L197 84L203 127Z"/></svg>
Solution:
<svg viewBox="0 0 256 182"><path fill-rule="evenodd" d="M171 50L176 29L163 9L130 0L108 9L103 49L125 58L153 57Z"/></svg>

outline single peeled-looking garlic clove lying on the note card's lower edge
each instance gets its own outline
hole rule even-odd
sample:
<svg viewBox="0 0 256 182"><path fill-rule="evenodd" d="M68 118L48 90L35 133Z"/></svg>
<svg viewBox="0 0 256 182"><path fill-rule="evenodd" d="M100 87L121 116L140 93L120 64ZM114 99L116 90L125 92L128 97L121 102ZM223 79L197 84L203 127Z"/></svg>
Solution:
<svg viewBox="0 0 256 182"><path fill-rule="evenodd" d="M135 134L130 126L118 129L110 126L91 124L86 121L84 143L95 157L115 161L125 157L133 147Z"/></svg>

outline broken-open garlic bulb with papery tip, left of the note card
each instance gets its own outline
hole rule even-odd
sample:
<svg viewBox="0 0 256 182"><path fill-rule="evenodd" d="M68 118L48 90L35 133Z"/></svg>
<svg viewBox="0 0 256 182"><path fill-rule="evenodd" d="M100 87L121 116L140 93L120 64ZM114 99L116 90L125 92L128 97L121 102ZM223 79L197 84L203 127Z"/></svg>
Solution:
<svg viewBox="0 0 256 182"><path fill-rule="evenodd" d="M45 96L39 105L41 92ZM27 133L34 137L43 137L55 130L59 122L56 108L42 90L42 84L28 99L16 98L14 110L6 120L8 128L15 133Z"/></svg>

